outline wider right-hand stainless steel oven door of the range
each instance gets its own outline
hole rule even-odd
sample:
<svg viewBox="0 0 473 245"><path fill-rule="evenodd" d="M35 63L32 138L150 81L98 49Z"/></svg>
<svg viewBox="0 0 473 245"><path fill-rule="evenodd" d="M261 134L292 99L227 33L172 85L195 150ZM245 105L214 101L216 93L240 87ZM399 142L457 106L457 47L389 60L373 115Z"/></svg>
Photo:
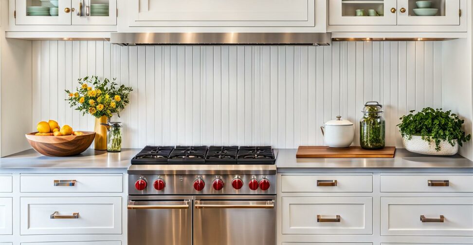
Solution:
<svg viewBox="0 0 473 245"><path fill-rule="evenodd" d="M205 196L194 201L194 245L275 245L275 196Z"/></svg>

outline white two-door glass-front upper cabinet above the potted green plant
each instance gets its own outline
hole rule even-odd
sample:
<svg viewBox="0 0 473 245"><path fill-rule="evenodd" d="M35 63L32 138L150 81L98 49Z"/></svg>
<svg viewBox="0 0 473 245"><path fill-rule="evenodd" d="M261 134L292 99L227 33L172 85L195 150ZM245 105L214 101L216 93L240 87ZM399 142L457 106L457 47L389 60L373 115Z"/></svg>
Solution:
<svg viewBox="0 0 473 245"><path fill-rule="evenodd" d="M467 31L466 0L330 0L328 9L333 32Z"/></svg>

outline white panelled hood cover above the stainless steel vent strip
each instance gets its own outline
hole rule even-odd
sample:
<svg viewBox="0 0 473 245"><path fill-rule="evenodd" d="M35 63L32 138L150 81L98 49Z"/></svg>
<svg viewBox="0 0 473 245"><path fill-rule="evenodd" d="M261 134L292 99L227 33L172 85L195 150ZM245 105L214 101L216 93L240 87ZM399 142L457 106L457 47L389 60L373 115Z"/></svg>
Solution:
<svg viewBox="0 0 473 245"><path fill-rule="evenodd" d="M128 17L130 27L313 27L316 13L325 12L322 2L135 0L129 2Z"/></svg>

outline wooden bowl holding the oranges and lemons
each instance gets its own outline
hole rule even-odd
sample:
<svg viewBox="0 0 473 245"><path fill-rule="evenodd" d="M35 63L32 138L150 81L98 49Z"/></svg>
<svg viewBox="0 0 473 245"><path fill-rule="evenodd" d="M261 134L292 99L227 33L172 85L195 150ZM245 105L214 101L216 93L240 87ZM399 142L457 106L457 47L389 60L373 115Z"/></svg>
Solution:
<svg viewBox="0 0 473 245"><path fill-rule="evenodd" d="M81 131L83 135L39 136L27 133L26 139L39 153L51 157L67 157L80 154L89 148L95 132Z"/></svg>

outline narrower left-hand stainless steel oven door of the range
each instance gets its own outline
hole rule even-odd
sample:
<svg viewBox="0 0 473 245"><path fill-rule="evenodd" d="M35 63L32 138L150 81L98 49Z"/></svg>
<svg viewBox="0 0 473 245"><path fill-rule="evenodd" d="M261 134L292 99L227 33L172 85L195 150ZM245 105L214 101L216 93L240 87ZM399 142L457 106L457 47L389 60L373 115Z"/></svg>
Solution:
<svg viewBox="0 0 473 245"><path fill-rule="evenodd" d="M128 245L192 245L192 198L139 198L128 201Z"/></svg>

